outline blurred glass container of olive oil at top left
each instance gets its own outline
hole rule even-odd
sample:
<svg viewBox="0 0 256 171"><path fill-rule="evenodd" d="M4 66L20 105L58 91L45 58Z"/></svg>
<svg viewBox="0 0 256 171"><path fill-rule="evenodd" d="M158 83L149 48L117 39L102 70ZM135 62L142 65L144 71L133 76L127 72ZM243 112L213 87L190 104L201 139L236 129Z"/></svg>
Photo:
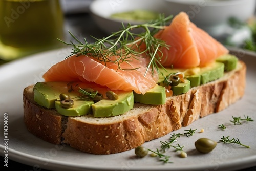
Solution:
<svg viewBox="0 0 256 171"><path fill-rule="evenodd" d="M59 0L0 1L0 59L13 60L61 46Z"/></svg>

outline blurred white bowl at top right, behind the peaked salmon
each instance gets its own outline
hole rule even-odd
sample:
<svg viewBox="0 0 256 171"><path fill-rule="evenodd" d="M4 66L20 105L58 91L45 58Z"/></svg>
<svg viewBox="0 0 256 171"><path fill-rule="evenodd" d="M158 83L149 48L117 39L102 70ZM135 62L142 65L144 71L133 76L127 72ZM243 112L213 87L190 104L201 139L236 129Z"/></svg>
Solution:
<svg viewBox="0 0 256 171"><path fill-rule="evenodd" d="M256 0L166 0L166 14L176 15L184 11L191 22L214 37L227 31L230 17L245 22L253 16Z"/></svg>

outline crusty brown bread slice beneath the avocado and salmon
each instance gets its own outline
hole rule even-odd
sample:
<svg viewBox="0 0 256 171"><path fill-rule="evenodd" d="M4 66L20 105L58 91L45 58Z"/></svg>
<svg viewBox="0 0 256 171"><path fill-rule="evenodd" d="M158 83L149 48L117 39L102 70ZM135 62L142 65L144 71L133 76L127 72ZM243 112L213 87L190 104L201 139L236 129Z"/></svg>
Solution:
<svg viewBox="0 0 256 171"><path fill-rule="evenodd" d="M244 95L245 63L216 81L168 97L164 105L135 103L129 112L111 118L65 117L33 100L33 86L24 89L24 121L37 137L69 144L82 152L113 154L127 151L220 112ZM63 141L62 141L63 138Z"/></svg>

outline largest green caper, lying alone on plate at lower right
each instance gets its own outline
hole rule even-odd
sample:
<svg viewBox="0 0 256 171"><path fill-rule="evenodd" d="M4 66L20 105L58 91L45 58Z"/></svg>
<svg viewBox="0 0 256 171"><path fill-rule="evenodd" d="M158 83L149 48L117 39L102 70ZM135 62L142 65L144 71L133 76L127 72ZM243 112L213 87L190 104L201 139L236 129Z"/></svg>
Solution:
<svg viewBox="0 0 256 171"><path fill-rule="evenodd" d="M217 145L216 141L210 140L208 138L200 138L195 142L197 151L200 153L209 153Z"/></svg>

